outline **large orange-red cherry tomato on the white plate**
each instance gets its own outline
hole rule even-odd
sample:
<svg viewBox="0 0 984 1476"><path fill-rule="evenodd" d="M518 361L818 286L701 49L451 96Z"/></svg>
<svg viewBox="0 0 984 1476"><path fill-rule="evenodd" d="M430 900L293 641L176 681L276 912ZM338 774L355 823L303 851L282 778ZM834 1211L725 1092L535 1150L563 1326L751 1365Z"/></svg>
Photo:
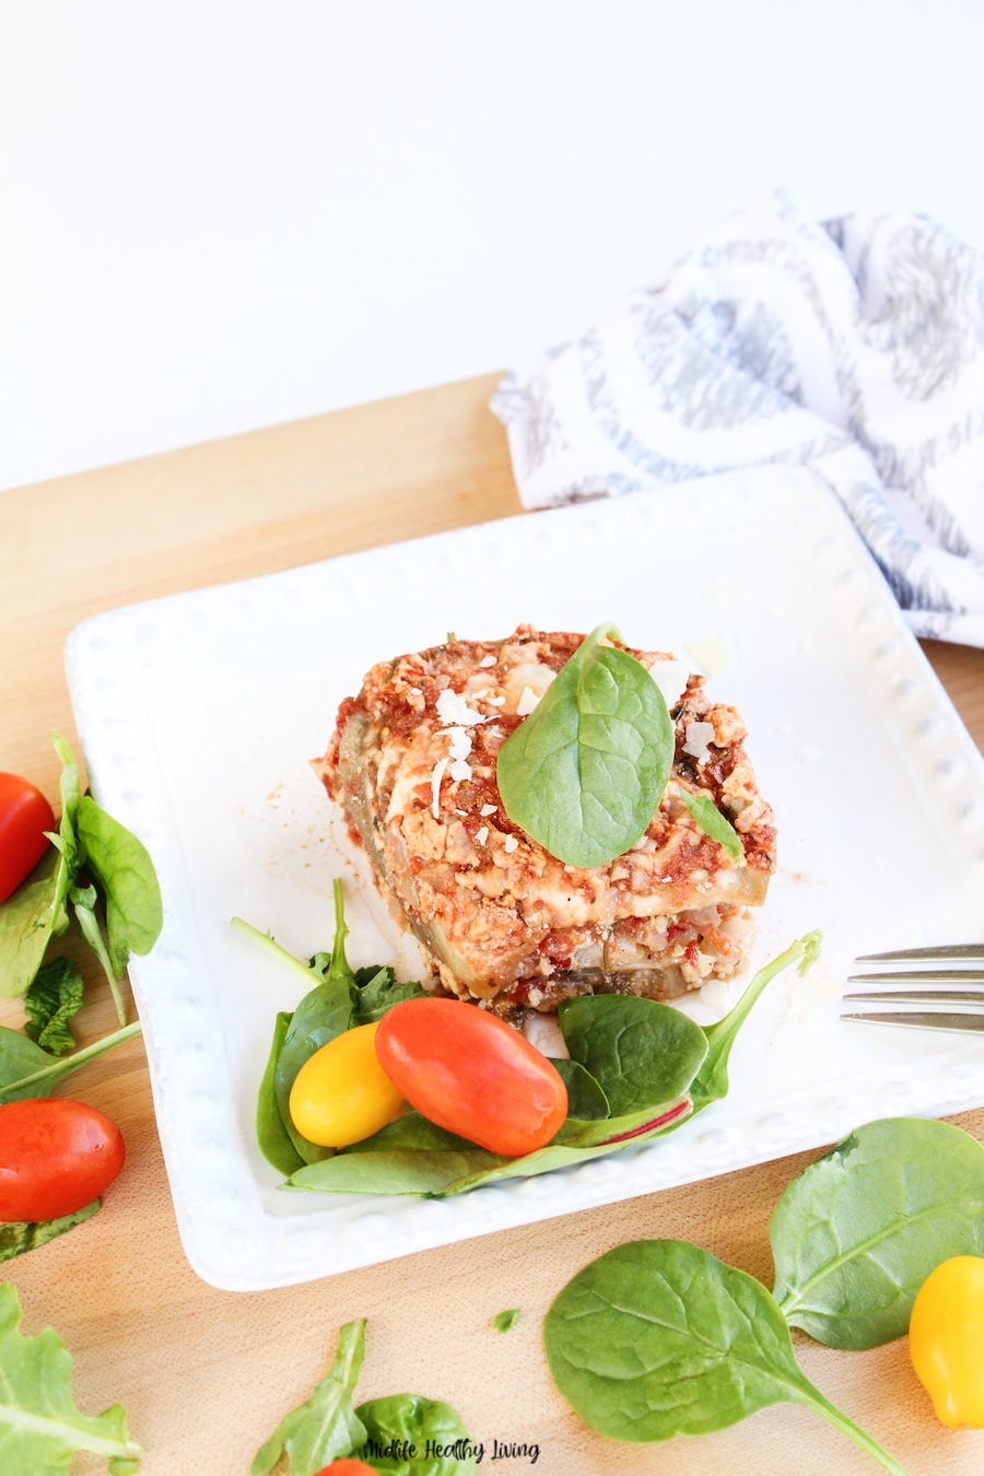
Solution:
<svg viewBox="0 0 984 1476"><path fill-rule="evenodd" d="M536 1153L567 1117L556 1067L505 1020L475 1005L394 1005L379 1021L376 1055L417 1111L490 1153Z"/></svg>

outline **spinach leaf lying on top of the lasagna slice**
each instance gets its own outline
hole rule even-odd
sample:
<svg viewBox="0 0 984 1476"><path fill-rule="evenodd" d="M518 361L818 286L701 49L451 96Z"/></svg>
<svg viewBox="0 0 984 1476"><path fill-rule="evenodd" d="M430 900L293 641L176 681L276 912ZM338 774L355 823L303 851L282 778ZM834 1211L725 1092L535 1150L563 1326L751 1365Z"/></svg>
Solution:
<svg viewBox="0 0 984 1476"><path fill-rule="evenodd" d="M640 661L597 626L499 750L509 818L552 856L605 866L645 834L670 778L674 728Z"/></svg>

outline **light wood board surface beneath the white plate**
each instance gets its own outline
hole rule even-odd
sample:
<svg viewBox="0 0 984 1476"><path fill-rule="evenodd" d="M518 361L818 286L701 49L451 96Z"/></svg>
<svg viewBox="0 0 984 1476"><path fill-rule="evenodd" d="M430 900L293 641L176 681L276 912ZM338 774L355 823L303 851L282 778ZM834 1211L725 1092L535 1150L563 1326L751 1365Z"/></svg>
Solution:
<svg viewBox="0 0 984 1476"><path fill-rule="evenodd" d="M0 769L55 799L53 731L74 739L62 670L84 617L519 511L502 428L485 409L496 376L0 494ZM978 745L984 651L928 644ZM71 946L71 945L69 945ZM80 1039L112 1027L108 990L84 964ZM21 1023L16 1004L0 1020ZM537 1472L659 1470L674 1476L870 1473L876 1467L816 1415L760 1413L658 1451L615 1445L553 1390L540 1348L552 1297L584 1262L643 1235L707 1246L770 1284L767 1221L805 1157L541 1225L448 1246L307 1287L236 1296L190 1271L177 1238L142 1044L72 1091L114 1116L127 1166L103 1210L3 1271L25 1331L52 1322L75 1356L80 1405L119 1399L148 1449L145 1476L238 1476L288 1408L322 1376L336 1328L369 1318L360 1395L416 1390L454 1404L491 1446L537 1442ZM956 1119L984 1137L984 1111ZM490 1318L519 1306L494 1333ZM807 1374L919 1473L978 1476L984 1433L937 1424L906 1340L834 1353L797 1334ZM491 1452L490 1452L491 1454ZM484 1470L527 1472L528 1458ZM74 1470L102 1470L78 1457Z"/></svg>

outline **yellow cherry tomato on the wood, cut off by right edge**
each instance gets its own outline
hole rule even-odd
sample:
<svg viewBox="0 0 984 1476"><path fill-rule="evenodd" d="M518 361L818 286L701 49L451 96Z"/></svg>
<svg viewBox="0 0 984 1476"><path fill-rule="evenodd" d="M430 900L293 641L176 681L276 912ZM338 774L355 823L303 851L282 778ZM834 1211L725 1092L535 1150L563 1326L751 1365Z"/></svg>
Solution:
<svg viewBox="0 0 984 1476"><path fill-rule="evenodd" d="M926 1277L912 1308L909 1352L943 1424L984 1429L981 1256L953 1256Z"/></svg>

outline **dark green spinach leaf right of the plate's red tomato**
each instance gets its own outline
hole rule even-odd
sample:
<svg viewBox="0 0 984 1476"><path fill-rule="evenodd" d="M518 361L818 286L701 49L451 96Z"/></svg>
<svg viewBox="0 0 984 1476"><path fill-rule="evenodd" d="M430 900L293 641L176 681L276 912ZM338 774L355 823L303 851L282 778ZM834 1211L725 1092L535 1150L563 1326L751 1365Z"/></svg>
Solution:
<svg viewBox="0 0 984 1476"><path fill-rule="evenodd" d="M564 999L558 1018L571 1058L592 1073L614 1117L682 1097L708 1049L699 1024L637 995Z"/></svg>

